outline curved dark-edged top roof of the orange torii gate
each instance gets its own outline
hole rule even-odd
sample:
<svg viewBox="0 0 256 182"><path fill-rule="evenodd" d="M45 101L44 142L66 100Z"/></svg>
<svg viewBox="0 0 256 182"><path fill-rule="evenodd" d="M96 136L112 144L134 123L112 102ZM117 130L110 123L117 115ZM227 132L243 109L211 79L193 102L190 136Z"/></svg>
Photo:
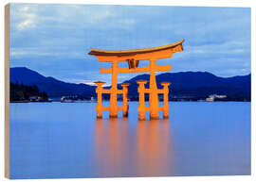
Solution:
<svg viewBox="0 0 256 182"><path fill-rule="evenodd" d="M130 50L101 50L101 49L95 49L91 47L91 51L88 54L94 55L94 56L117 56L117 57L133 56L137 54L152 53L152 52L171 49L182 44L183 41L184 40L176 41L168 45L162 45L157 47L151 47L151 48L145 48L145 49L130 49Z"/></svg>

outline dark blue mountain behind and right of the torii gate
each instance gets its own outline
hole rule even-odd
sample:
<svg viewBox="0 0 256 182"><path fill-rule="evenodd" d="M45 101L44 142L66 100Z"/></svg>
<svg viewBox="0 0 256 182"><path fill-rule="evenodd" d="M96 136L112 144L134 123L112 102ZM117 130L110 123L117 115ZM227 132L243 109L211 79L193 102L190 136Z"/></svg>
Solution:
<svg viewBox="0 0 256 182"><path fill-rule="evenodd" d="M137 94L136 81L139 79L149 81L150 74L137 75L125 81L130 83L130 97ZM158 74L155 79L159 89L162 88L161 82L172 83L169 87L172 97L205 99L210 94L225 94L232 100L250 100L251 74L225 78L207 72L180 72ZM149 82L145 87L149 87Z"/></svg>

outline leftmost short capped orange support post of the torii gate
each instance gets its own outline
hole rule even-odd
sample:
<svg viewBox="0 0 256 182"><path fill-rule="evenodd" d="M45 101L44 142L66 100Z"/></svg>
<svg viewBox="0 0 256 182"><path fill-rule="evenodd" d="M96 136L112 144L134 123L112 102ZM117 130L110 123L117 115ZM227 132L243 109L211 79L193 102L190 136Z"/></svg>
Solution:
<svg viewBox="0 0 256 182"><path fill-rule="evenodd" d="M97 118L102 118L102 85L105 84L105 82L102 81L96 81L94 82L97 85L96 88L96 93L97 93L97 106L96 106L96 111L97 111Z"/></svg>

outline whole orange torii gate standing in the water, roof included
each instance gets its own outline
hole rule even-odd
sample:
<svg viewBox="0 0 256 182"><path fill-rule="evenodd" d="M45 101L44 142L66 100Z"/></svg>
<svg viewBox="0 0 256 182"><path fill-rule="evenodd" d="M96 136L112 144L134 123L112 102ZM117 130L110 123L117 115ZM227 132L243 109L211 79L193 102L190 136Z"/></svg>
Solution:
<svg viewBox="0 0 256 182"><path fill-rule="evenodd" d="M182 42L177 41L172 44L146 48L146 49L135 49L135 50L119 50L119 51L108 51L99 50L91 48L89 55L93 55L99 58L99 61L112 62L111 68L101 68L101 74L112 74L112 86L111 89L106 90L102 88L104 82L98 81L95 84L98 86L96 89L98 95L98 105L96 107L97 117L102 117L103 110L110 111L110 117L118 117L118 111L122 110L123 116L128 114L128 104L127 104L127 94L129 84L121 84L122 90L118 89L118 74L122 73L140 73L140 72L150 72L150 86L149 89L145 89L144 85L147 83L146 80L137 80L138 93L139 93L139 106L138 119L145 120L145 112L150 112L151 119L158 119L158 111L163 111L163 117L168 118L169 107L168 107L168 86L170 83L163 82L161 85L163 89L159 90L156 86L155 72L171 71L171 65L158 66L155 61L159 58L171 58L174 53L183 51ZM139 60L149 60L150 64L147 67L138 67ZM127 61L129 68L119 68L119 61ZM102 93L110 94L110 106L102 106ZM149 93L149 108L145 107L145 97L144 94ZM163 107L158 107L158 93L164 95ZM123 95L123 106L118 106L118 94Z"/></svg>

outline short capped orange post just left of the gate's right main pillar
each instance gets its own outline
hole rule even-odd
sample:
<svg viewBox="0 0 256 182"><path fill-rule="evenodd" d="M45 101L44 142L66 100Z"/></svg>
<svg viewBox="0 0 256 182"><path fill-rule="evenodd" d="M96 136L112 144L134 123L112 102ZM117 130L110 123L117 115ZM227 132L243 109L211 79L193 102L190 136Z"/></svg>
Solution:
<svg viewBox="0 0 256 182"><path fill-rule="evenodd" d="M145 84L147 83L146 80L137 80L138 88L138 120L145 120Z"/></svg>

